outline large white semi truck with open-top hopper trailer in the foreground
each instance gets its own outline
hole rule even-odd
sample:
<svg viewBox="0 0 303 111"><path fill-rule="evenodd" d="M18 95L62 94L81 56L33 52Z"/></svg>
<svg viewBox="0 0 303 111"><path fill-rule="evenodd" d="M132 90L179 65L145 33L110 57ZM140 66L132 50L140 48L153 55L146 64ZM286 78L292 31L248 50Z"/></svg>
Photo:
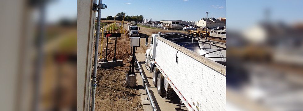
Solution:
<svg viewBox="0 0 303 111"><path fill-rule="evenodd" d="M165 99L177 95L190 111L225 111L225 49L191 35L152 34L145 65Z"/></svg>

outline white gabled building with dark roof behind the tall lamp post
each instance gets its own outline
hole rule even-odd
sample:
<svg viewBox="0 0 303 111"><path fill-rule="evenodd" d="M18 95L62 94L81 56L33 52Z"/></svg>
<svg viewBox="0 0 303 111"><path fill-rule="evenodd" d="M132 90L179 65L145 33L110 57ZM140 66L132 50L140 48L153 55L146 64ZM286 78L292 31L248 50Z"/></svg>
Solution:
<svg viewBox="0 0 303 111"><path fill-rule="evenodd" d="M225 27L225 21L216 20L215 18L202 18L196 22L198 27Z"/></svg>

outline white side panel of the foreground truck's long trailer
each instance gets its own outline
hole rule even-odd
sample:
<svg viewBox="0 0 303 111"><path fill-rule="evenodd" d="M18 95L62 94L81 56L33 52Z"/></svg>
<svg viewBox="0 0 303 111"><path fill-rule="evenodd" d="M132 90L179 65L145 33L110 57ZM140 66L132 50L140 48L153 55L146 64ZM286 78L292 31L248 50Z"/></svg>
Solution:
<svg viewBox="0 0 303 111"><path fill-rule="evenodd" d="M156 63L193 109L197 110L198 107L200 111L224 111L226 77L181 51L178 51L178 63L176 63L177 51L158 40ZM180 97L180 94L178 96Z"/></svg>

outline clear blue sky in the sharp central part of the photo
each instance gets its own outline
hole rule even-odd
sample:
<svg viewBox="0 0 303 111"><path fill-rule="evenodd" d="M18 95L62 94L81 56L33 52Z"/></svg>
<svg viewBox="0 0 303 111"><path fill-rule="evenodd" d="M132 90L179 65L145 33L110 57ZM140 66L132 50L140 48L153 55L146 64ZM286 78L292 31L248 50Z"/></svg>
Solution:
<svg viewBox="0 0 303 111"><path fill-rule="evenodd" d="M143 15L144 19L160 21L175 19L198 21L206 17L225 17L225 0L102 0L107 5L101 18L114 16L118 12L126 15Z"/></svg>

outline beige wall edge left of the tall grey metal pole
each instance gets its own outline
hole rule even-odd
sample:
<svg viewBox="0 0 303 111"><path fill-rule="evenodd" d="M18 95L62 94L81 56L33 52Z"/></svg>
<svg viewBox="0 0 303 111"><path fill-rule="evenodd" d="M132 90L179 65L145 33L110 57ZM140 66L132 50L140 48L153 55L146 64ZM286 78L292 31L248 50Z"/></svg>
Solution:
<svg viewBox="0 0 303 111"><path fill-rule="evenodd" d="M90 79L92 70L92 48L96 12L92 3L96 0L78 0L77 16L77 110L88 111L90 101Z"/></svg>

